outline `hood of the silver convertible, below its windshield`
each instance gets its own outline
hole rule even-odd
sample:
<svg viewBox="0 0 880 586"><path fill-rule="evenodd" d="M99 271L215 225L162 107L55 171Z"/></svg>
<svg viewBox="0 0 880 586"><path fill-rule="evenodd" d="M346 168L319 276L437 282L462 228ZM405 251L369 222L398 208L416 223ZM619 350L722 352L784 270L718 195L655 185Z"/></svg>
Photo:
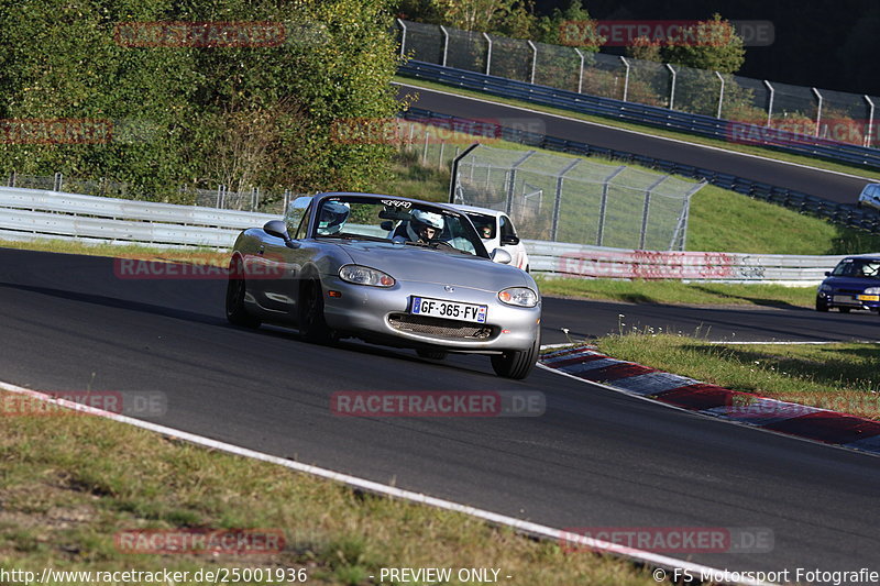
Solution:
<svg viewBox="0 0 880 586"><path fill-rule="evenodd" d="M470 254L393 244L352 241L339 244L359 265L384 270L399 281L439 283L497 291L531 286L516 267Z"/></svg>

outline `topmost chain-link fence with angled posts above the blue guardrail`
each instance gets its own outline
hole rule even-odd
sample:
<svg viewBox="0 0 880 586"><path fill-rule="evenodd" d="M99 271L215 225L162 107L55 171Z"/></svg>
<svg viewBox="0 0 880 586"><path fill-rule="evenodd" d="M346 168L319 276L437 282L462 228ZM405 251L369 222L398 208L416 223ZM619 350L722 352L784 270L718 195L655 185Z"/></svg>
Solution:
<svg viewBox="0 0 880 586"><path fill-rule="evenodd" d="M400 54L592 96L877 146L880 98L397 21Z"/></svg>

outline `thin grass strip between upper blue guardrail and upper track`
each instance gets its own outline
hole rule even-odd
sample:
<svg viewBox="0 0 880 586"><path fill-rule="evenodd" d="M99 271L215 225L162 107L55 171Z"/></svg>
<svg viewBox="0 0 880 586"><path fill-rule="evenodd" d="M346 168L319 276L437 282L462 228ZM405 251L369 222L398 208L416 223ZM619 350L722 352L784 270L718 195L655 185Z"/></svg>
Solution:
<svg viewBox="0 0 880 586"><path fill-rule="evenodd" d="M766 147L761 147L761 146L752 146L752 145L746 145L746 144L732 143L732 142L728 142L728 141L719 141L719 140L715 140L715 139L708 139L708 137L705 137L705 136L688 134L688 133L684 133L684 132L675 132L675 131L670 131L670 130L664 130L664 129L658 129L656 126L635 124L635 123L630 123L630 122L622 122L619 120L614 120L612 118L602 118L602 117L596 117L596 115L588 115L588 114L583 114L583 113L580 113L580 112L573 112L571 110L563 110L563 109L559 109L559 108L551 108L549 106L535 104L535 103L526 102L526 101L522 101L522 100L502 98L502 97L498 97L498 96L492 96L492 95L483 93L483 92L480 92L480 91L462 89L462 88L458 88L458 87L454 87L454 86L446 86L443 84L437 84L437 82L433 82L433 81L426 81L426 80L422 80L422 79L414 79L414 78L409 78L409 77L397 76L397 77L394 78L394 80L397 81L397 82L400 82L400 84L407 84L407 85L411 85L411 86L420 86L420 87L424 87L426 89L437 89L437 90L441 90L441 91L448 91L450 93L459 93L459 95L462 95L462 96L470 96L470 97L474 97L474 98L486 99L486 100L495 101L495 102L498 102L498 103L505 103L505 104L509 104L509 106L518 106L518 107L521 107L521 108L528 108L530 110L537 110L537 111L540 111L540 112L548 112L548 113L551 113L551 114L564 115L564 117L568 117L568 118L585 120L585 121L588 121L588 122L596 122L596 123L600 123L600 124L605 124L607 126L615 126L615 128L620 128L620 129L626 129L626 130L632 130L632 131L636 131L636 132L639 132L639 133L642 133L642 134L652 134L652 135L656 135L656 136L666 136L666 137L669 137L669 139L676 139L676 140L680 140L680 141L686 141L686 142L694 143L694 144L704 144L704 145L707 145L707 146L715 146L715 147L718 147L718 148L724 148L725 151L734 151L734 152L737 152L737 153L747 153L747 154L758 155L758 156L762 156L762 157L767 157L767 158L773 158L773 159L777 159L777 161L796 163L799 165L807 165L807 166L816 167L816 168L821 168L821 169L828 169L828 170L835 170L835 172L838 172L838 173L847 173L847 174L858 175L860 177L880 179L880 170L875 169L875 168L870 168L870 167L860 167L860 166L854 166L854 165L846 165L846 164L842 164L842 163L835 163L835 162L832 162L832 161L825 161L825 159L822 159L822 158L815 158L815 157L809 157L809 156L803 156L803 155L794 155L794 154L790 154L790 153L783 153L781 151L776 151L773 148L766 148ZM418 107L419 106L418 101L414 102L414 106ZM853 194L853 199L854 200L856 199L857 195L858 194Z"/></svg>

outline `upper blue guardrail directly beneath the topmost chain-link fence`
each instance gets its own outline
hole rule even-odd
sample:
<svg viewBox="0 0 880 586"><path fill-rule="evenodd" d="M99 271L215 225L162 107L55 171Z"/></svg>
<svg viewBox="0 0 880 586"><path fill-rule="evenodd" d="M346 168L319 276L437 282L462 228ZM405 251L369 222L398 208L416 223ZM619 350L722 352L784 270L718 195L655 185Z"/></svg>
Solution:
<svg viewBox="0 0 880 586"><path fill-rule="evenodd" d="M671 129L728 142L737 134L748 136L747 144L772 147L788 153L822 157L828 161L880 168L880 151L858 145L827 141L814 136L768 133L763 126L718 119L704 114L691 114L635 102L578 93L549 86L539 86L465 69L443 67L430 63L411 60L398 68L402 75L437 81L449 86L482 91L503 98L515 98L530 103L551 106L584 114L613 118L654 128Z"/></svg>

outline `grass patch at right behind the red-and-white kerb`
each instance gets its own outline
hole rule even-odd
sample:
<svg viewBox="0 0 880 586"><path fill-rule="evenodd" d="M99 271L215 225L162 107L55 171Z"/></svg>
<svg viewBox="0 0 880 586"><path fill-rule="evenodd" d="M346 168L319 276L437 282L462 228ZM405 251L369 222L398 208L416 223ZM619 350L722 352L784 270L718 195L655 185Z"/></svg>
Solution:
<svg viewBox="0 0 880 586"><path fill-rule="evenodd" d="M592 343L623 361L668 371L732 390L880 419L880 346L723 345L662 329L627 331Z"/></svg>

